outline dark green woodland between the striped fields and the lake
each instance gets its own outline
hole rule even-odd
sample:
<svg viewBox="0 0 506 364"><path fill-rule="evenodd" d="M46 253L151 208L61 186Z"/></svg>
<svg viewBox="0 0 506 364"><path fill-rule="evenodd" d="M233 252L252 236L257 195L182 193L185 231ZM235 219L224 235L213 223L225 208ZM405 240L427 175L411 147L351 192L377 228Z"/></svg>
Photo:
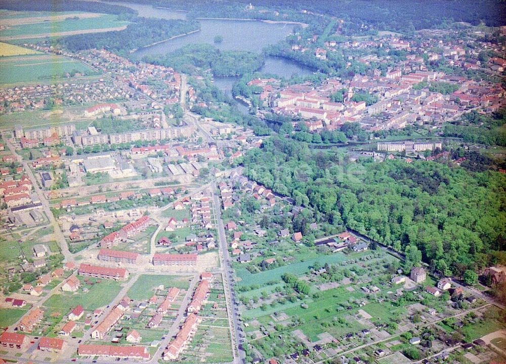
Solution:
<svg viewBox="0 0 506 364"><path fill-rule="evenodd" d="M70 35L63 38L63 43L72 52L105 48L125 55L134 49L200 28L200 24L192 20L141 17L129 20L132 23L124 30Z"/></svg>

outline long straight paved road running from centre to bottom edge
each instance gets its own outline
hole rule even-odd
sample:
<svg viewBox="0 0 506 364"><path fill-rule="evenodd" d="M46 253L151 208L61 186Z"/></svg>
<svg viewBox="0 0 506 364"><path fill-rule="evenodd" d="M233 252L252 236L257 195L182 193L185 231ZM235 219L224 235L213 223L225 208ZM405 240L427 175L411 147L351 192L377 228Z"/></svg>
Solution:
<svg viewBox="0 0 506 364"><path fill-rule="evenodd" d="M225 290L225 299L227 302L227 312L229 315L230 334L232 336L232 347L234 352L234 363L245 362L245 353L242 348L241 329L239 323L239 314L237 305L235 305L235 295L232 287L232 266L230 265L230 256L227 247L227 238L225 235L225 228L223 226L223 219L221 217L220 200L216 194L216 185L213 184L213 211L215 215L217 230L218 230L218 243L220 261L223 269L223 288ZM238 355L237 355L238 353Z"/></svg>

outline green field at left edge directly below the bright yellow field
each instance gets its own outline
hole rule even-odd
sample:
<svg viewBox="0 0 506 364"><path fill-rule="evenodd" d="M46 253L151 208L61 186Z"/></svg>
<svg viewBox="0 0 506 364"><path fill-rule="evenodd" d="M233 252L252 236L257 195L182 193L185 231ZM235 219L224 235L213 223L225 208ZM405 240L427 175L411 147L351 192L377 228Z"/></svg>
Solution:
<svg viewBox="0 0 506 364"><path fill-rule="evenodd" d="M66 73L96 75L88 66L57 55L8 57L0 60L0 84L54 82Z"/></svg>

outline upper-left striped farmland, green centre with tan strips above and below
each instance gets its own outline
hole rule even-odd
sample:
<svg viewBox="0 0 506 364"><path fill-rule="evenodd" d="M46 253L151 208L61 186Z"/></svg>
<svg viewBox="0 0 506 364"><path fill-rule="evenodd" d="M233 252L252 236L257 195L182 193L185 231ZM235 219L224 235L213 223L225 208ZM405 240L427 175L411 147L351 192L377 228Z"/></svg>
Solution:
<svg viewBox="0 0 506 364"><path fill-rule="evenodd" d="M108 30L119 30L128 22L117 20L116 15L81 14L59 16L56 20L53 17L29 17L17 18L19 25L10 24L6 29L0 31L0 39L33 39L64 36L70 34L100 32ZM10 23L13 23L12 21ZM21 23L21 24L20 24Z"/></svg>

